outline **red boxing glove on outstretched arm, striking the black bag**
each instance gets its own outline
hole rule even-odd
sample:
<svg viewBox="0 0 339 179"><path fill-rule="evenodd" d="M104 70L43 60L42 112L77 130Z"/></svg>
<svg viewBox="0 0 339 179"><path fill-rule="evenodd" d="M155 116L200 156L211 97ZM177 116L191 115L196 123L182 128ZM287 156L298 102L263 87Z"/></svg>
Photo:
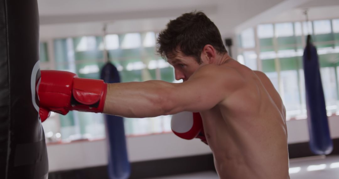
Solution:
<svg viewBox="0 0 339 179"><path fill-rule="evenodd" d="M72 110L101 113L107 84L103 80L78 78L71 72L42 70L36 90L43 122L51 111L62 115Z"/></svg>

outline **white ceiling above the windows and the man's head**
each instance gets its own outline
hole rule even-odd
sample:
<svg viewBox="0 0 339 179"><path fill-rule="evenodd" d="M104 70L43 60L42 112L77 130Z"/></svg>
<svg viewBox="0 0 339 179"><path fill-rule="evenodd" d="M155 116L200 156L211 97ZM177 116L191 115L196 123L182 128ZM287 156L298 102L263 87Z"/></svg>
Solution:
<svg viewBox="0 0 339 179"><path fill-rule="evenodd" d="M38 0L38 5L41 39L99 35L103 23L108 33L160 31L170 19L195 9L206 13L224 37L265 21L294 19L291 12L306 7L310 19L312 9L324 16L324 6L339 18L339 0Z"/></svg>

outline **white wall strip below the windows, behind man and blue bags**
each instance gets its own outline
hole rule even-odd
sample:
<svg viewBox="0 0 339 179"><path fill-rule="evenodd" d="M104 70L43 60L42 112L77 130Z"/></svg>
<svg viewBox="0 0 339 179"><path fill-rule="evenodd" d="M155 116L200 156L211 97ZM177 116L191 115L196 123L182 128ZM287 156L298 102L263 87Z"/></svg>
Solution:
<svg viewBox="0 0 339 179"><path fill-rule="evenodd" d="M329 117L332 138L339 137L339 116ZM307 142L306 120L287 121L288 143ZM105 140L47 145L49 171L70 170L107 164ZM130 162L211 154L199 139L184 140L173 133L127 137Z"/></svg>

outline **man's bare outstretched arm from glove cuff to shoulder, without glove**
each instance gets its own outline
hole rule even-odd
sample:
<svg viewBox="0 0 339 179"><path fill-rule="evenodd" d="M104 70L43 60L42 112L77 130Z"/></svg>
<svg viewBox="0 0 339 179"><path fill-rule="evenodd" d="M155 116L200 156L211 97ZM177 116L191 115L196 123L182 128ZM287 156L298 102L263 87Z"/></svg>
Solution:
<svg viewBox="0 0 339 179"><path fill-rule="evenodd" d="M140 118L211 109L242 86L243 80L234 69L224 70L217 65L206 65L183 83L108 84L104 113Z"/></svg>

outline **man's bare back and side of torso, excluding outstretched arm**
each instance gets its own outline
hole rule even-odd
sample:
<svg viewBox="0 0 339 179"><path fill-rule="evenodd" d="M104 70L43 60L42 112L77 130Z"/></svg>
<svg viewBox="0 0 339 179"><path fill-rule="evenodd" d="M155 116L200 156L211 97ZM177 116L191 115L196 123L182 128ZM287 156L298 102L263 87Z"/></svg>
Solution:
<svg viewBox="0 0 339 179"><path fill-rule="evenodd" d="M285 108L279 94L262 72L234 60L223 66L238 71L246 86L200 112L220 178L289 178Z"/></svg>

